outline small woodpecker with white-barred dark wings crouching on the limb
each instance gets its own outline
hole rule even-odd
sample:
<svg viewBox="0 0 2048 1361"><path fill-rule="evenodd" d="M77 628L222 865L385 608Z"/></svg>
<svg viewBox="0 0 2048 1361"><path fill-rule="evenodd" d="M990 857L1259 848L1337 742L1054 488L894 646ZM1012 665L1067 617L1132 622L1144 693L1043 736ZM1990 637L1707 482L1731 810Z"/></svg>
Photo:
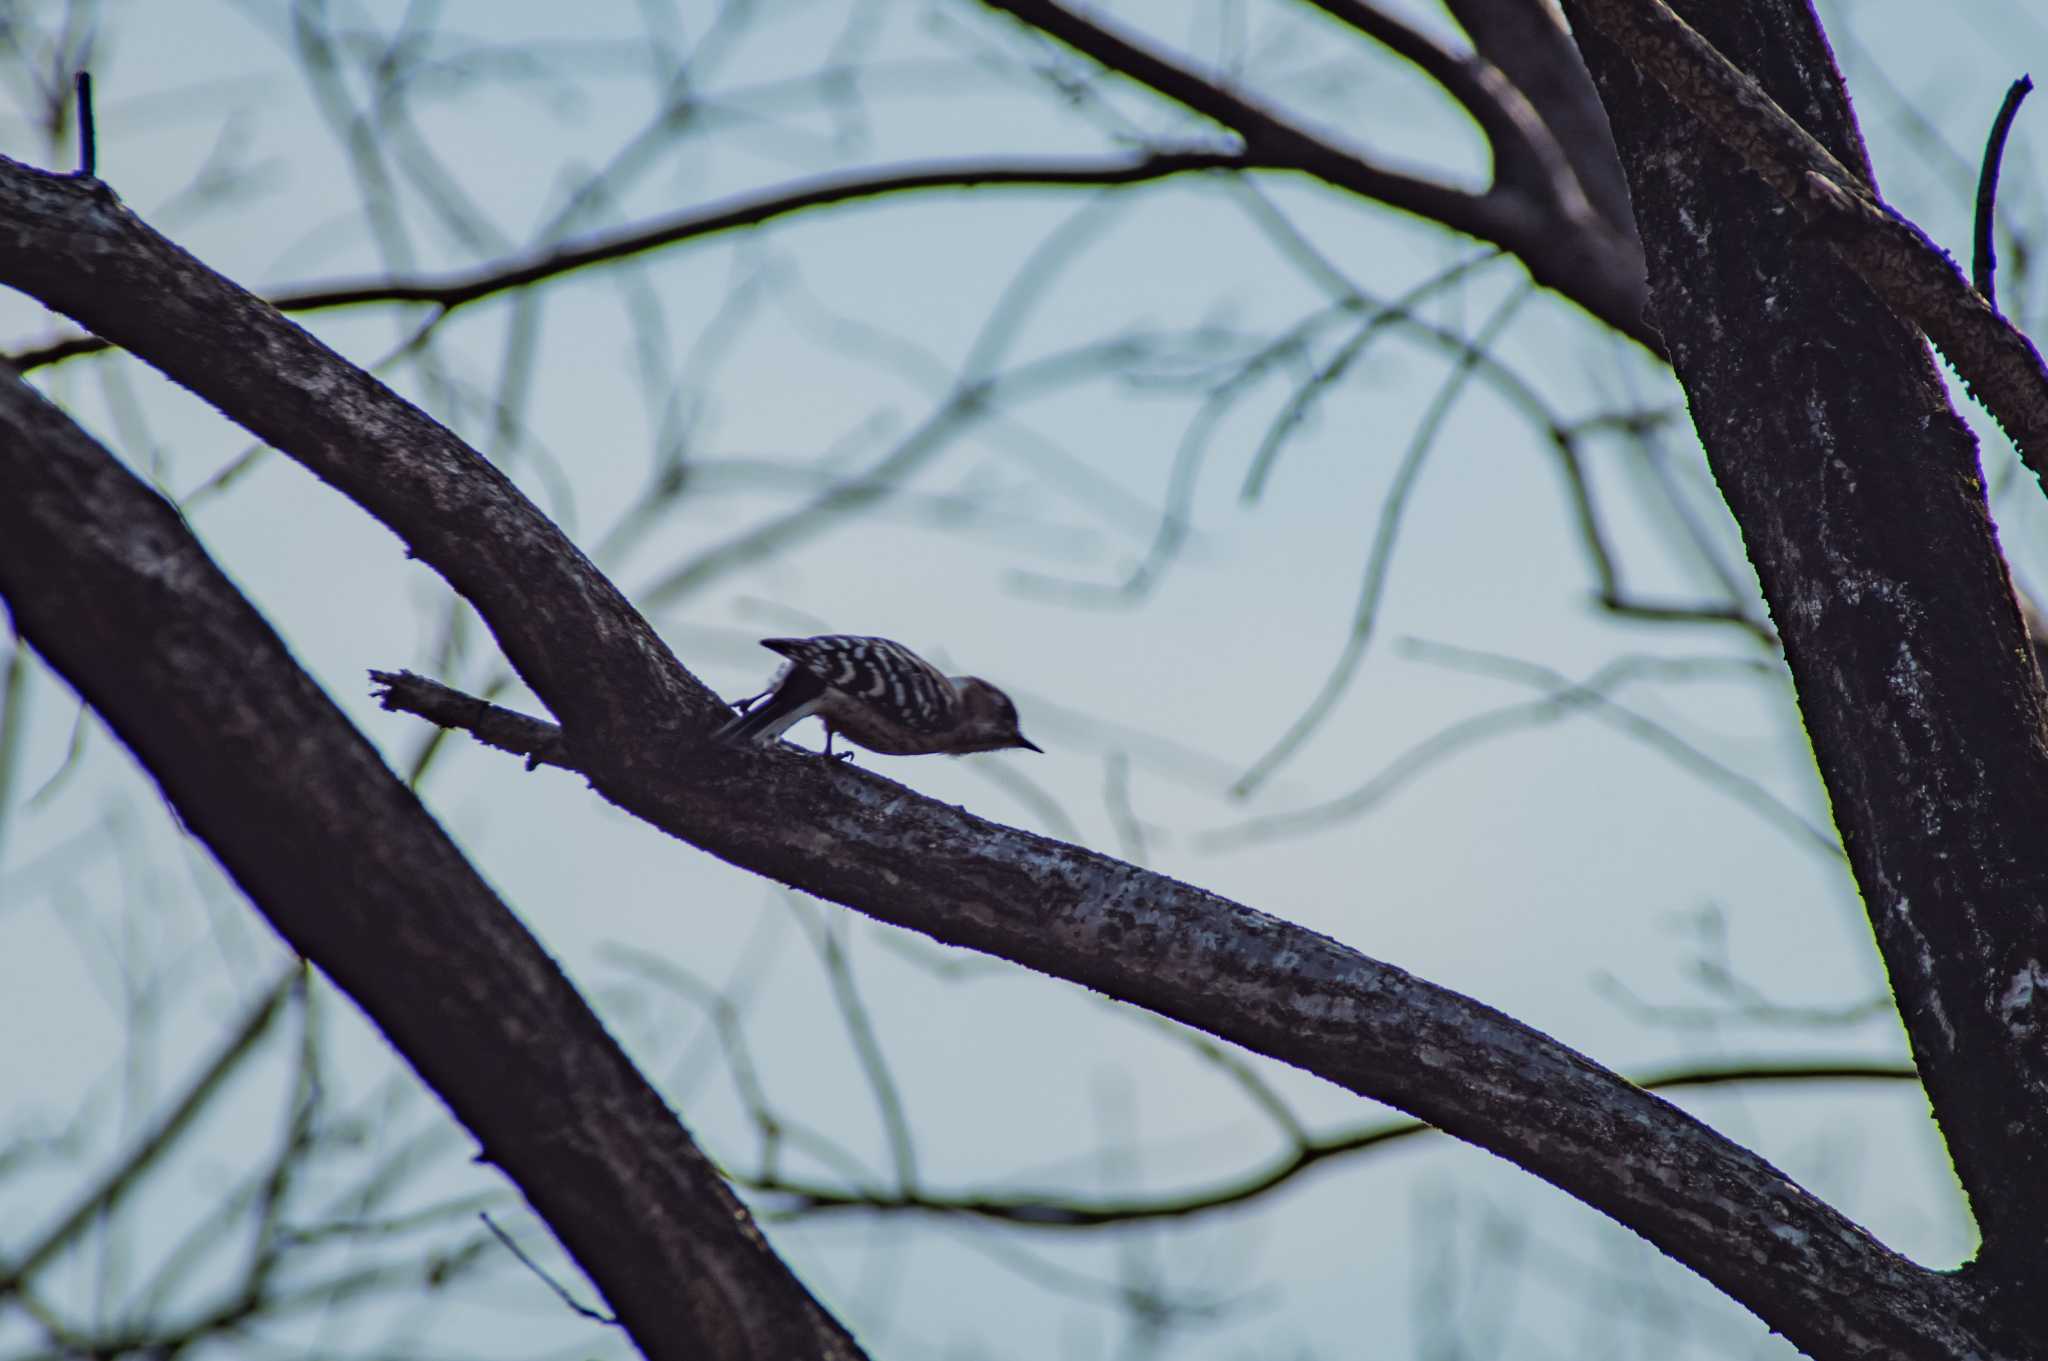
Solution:
<svg viewBox="0 0 2048 1361"><path fill-rule="evenodd" d="M827 632L762 639L762 647L788 661L768 690L711 735L717 743L768 745L817 714L825 720L825 755L834 737L883 755L1040 751L1018 731L1010 696L975 675L942 675L901 643Z"/></svg>

